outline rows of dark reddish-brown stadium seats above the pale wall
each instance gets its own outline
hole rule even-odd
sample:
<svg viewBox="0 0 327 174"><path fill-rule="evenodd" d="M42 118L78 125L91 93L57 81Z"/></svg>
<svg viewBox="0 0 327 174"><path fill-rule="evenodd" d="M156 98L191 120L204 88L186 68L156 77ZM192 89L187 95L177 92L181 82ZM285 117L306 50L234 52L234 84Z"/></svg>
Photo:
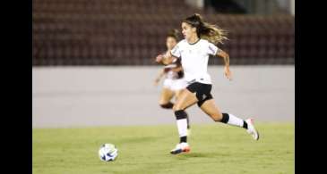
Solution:
<svg viewBox="0 0 327 174"><path fill-rule="evenodd" d="M176 0L33 0L32 9L33 65L151 64L168 29L180 29L194 12L228 30L233 62L294 59L294 17L287 15L219 14Z"/></svg>

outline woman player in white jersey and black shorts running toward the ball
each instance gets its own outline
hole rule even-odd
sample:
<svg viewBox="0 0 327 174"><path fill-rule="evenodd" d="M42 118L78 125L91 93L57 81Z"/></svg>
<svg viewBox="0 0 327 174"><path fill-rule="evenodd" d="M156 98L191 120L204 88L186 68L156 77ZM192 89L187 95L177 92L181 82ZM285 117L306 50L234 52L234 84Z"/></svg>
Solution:
<svg viewBox="0 0 327 174"><path fill-rule="evenodd" d="M226 32L217 26L204 22L202 16L195 13L182 21L182 33L185 39L181 40L167 54L159 54L156 59L157 62L164 64L181 59L185 79L189 84L181 92L173 106L180 142L170 153L177 154L190 151L190 146L187 144L187 113L185 109L195 103L212 120L245 128L255 140L258 140L259 134L254 128L252 119L242 120L231 113L220 112L211 95L211 76L207 72L210 54L224 59L224 74L229 80L232 78L229 70L229 55L215 46L227 38Z"/></svg>

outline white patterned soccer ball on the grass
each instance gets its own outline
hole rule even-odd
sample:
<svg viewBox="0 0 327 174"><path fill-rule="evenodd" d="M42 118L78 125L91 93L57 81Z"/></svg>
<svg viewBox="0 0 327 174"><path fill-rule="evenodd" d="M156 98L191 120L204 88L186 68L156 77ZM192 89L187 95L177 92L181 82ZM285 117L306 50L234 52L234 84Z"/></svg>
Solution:
<svg viewBox="0 0 327 174"><path fill-rule="evenodd" d="M104 144L99 148L99 158L103 162L111 162L116 159L118 155L118 149L115 145Z"/></svg>

